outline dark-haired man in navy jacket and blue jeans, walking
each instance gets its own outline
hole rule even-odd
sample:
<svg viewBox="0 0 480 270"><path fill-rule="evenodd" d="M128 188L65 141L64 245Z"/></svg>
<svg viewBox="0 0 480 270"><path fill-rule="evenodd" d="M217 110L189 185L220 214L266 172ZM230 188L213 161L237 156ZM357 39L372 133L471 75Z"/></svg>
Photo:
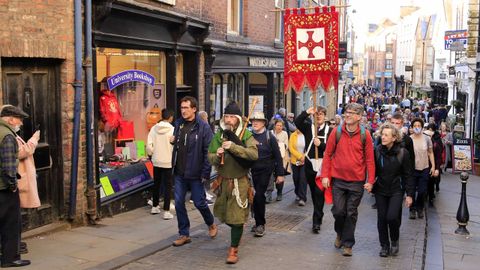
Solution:
<svg viewBox="0 0 480 270"><path fill-rule="evenodd" d="M208 145L212 140L210 126L197 116L197 100L186 96L180 100L181 119L175 123L173 161L175 176L175 210L177 212L179 237L174 246L190 243L190 221L185 208L185 195L190 188L195 207L208 225L211 238L217 236L217 225L205 197L203 181L210 178Z"/></svg>

